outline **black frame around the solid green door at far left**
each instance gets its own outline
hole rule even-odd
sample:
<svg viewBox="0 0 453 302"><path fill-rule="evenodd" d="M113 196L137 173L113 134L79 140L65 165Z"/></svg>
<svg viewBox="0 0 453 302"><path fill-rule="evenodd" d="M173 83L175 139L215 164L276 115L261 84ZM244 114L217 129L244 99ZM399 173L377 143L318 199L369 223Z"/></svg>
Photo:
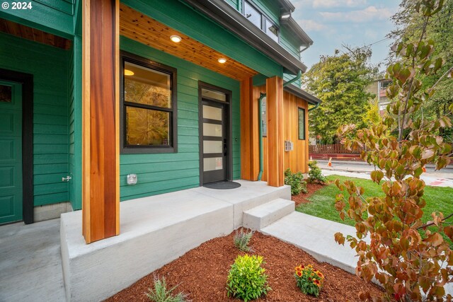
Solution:
<svg viewBox="0 0 453 302"><path fill-rule="evenodd" d="M33 74L0 68L0 79L22 84L22 219L33 223Z"/></svg>

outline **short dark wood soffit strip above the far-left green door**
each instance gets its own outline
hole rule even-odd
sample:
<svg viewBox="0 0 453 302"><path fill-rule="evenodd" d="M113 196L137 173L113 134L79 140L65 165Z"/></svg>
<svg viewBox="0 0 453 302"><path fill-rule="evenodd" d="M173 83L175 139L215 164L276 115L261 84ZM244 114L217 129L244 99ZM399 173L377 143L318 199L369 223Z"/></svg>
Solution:
<svg viewBox="0 0 453 302"><path fill-rule="evenodd" d="M71 48L71 40L2 18L0 18L0 32L45 45L62 48L63 50L69 50L69 48Z"/></svg>

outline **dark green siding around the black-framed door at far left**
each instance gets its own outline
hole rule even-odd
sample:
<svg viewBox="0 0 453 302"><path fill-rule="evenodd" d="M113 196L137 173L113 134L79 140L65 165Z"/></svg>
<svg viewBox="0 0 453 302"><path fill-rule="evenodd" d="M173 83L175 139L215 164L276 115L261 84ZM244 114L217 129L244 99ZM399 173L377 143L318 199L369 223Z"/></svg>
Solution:
<svg viewBox="0 0 453 302"><path fill-rule="evenodd" d="M0 68L33 74L34 204L68 200L68 52L0 33Z"/></svg>

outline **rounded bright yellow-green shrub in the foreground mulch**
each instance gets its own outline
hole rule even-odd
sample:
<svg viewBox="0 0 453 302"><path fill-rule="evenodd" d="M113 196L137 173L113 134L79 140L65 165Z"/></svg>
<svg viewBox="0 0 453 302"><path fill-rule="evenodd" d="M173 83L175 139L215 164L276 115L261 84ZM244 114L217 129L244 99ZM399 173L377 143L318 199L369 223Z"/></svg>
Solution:
<svg viewBox="0 0 453 302"><path fill-rule="evenodd" d="M243 255L236 257L228 273L226 291L228 296L251 301L261 295L268 294L268 275L261 267L263 257L257 255Z"/></svg>

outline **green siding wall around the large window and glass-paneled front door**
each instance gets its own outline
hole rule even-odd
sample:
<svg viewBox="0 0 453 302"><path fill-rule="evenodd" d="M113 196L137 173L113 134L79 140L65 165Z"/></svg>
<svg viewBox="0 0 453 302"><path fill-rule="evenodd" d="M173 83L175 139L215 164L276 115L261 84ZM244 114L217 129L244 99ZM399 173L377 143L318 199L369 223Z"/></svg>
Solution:
<svg viewBox="0 0 453 302"><path fill-rule="evenodd" d="M120 37L122 50L178 69L178 153L122 154L121 200L145 197L200 185L198 141L198 81L232 91L233 176L241 176L239 82L139 42ZM126 175L136 173L137 185L127 185Z"/></svg>

